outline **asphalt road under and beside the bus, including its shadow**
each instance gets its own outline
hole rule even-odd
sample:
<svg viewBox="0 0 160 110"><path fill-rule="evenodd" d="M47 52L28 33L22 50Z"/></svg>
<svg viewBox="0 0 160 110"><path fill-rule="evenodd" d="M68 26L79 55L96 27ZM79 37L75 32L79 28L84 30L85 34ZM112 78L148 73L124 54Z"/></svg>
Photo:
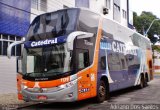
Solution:
<svg viewBox="0 0 160 110"><path fill-rule="evenodd" d="M111 93L111 99L97 104L93 99L72 103L41 103L20 110L160 110L160 75L143 89L131 87Z"/></svg>

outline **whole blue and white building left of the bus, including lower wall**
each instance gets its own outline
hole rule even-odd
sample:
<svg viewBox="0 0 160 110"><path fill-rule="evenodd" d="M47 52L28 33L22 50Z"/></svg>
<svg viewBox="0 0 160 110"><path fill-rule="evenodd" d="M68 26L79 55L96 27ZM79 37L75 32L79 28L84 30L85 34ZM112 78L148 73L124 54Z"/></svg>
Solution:
<svg viewBox="0 0 160 110"><path fill-rule="evenodd" d="M0 0L0 93L16 93L16 57L6 57L7 47L27 33L30 8L30 0ZM20 54L21 46L15 47L12 55Z"/></svg>

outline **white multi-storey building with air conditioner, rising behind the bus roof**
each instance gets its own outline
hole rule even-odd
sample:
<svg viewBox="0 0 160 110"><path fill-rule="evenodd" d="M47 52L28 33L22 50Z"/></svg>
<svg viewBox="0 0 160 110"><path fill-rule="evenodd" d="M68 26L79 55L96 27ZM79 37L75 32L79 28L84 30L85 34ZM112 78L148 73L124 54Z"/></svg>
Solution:
<svg viewBox="0 0 160 110"><path fill-rule="evenodd" d="M38 14L69 7L89 8L124 26L133 27L133 12L130 10L129 0L32 0L31 21Z"/></svg>

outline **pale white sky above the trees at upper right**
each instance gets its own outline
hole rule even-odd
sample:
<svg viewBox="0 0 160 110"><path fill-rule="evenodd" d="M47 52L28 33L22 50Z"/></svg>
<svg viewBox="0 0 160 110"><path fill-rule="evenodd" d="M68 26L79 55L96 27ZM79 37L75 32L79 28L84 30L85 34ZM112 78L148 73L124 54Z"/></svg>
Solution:
<svg viewBox="0 0 160 110"><path fill-rule="evenodd" d="M138 15L142 11L149 11L160 18L160 0L130 0L130 7Z"/></svg>

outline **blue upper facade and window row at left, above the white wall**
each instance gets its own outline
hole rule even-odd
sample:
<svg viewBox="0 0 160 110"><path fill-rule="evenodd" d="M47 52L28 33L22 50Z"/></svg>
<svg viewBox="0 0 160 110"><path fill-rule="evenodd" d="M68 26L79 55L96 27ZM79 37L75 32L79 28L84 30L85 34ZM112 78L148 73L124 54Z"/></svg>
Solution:
<svg viewBox="0 0 160 110"><path fill-rule="evenodd" d="M0 56L7 55L7 47L14 41L21 40L27 33L30 24L31 2L26 0L0 1ZM21 47L12 51L19 56Z"/></svg>

